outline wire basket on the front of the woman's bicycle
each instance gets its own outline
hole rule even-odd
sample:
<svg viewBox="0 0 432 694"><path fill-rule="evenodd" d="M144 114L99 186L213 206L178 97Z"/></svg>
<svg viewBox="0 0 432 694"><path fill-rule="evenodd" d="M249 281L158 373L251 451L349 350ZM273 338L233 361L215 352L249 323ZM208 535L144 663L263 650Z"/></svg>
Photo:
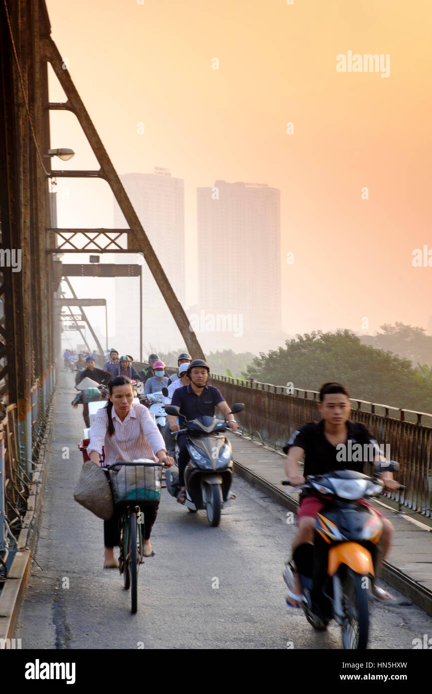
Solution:
<svg viewBox="0 0 432 694"><path fill-rule="evenodd" d="M162 464L148 459L114 463L107 468L114 505L159 503Z"/></svg>

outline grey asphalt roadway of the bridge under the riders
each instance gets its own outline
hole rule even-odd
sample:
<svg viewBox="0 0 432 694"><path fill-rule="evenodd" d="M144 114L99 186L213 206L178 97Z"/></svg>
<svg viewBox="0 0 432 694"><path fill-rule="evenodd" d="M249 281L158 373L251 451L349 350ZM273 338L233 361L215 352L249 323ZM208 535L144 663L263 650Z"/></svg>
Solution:
<svg viewBox="0 0 432 694"><path fill-rule="evenodd" d="M189 514L162 492L155 557L141 565L132 615L118 570L103 570L102 521L73 499L83 425L72 397L65 389L55 418L35 551L43 570L33 562L15 629L23 649L341 648L335 623L316 633L300 610L286 608L282 565L295 526L286 509L240 477L218 528L204 511ZM411 649L414 638L432 635L432 618L391 592L401 604L370 603L370 648Z"/></svg>

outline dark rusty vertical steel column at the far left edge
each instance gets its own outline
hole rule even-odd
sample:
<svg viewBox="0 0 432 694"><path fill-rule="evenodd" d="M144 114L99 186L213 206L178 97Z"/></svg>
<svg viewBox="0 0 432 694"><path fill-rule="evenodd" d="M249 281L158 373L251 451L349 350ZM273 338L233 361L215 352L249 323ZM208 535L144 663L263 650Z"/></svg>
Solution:
<svg viewBox="0 0 432 694"><path fill-rule="evenodd" d="M10 17L12 36L21 65L21 75L24 82L24 92L28 89L28 29L27 6L24 0L15 3L15 12ZM19 434L19 459L21 467L28 470L31 459L31 439L28 441L28 416L31 411L30 370L31 350L28 325L30 324L30 180L31 160L29 151L29 126L26 115L23 90L17 65L13 61L12 39L9 35L8 21L4 6L1 8L1 72L2 84L4 79L9 81L6 109L3 107L4 137L6 138L6 155L0 154L0 160L5 162L3 174L6 181L1 180L0 208L2 222L2 241L21 258L21 268L9 272L6 282L6 337L8 358L8 398L10 403L17 403L17 430ZM3 53L4 51L4 53ZM7 75L7 77L6 77ZM2 87L4 88L4 87ZM26 92L27 93L27 92ZM2 145L0 144L0 149ZM3 176L0 176L3 179ZM6 198L6 199L5 199ZM10 270L10 269L8 269ZM12 344L11 336L15 341Z"/></svg>

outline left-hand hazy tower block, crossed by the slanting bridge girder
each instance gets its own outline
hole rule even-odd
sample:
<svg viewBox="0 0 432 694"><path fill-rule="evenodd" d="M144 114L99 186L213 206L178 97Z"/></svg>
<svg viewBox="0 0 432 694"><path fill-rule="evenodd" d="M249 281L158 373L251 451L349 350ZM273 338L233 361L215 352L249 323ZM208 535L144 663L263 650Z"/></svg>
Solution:
<svg viewBox="0 0 432 694"><path fill-rule="evenodd" d="M169 169L155 167L154 171L123 174L120 178L178 300L184 305L184 181L173 178ZM114 205L114 227L125 226L128 225L123 214ZM116 255L116 262L137 263L137 258L132 254ZM162 350L171 342L181 343L178 328L145 261L142 273L144 346L151 344ZM114 282L116 344L122 353L126 351L139 359L139 280L116 278ZM144 349L144 359L147 356Z"/></svg>

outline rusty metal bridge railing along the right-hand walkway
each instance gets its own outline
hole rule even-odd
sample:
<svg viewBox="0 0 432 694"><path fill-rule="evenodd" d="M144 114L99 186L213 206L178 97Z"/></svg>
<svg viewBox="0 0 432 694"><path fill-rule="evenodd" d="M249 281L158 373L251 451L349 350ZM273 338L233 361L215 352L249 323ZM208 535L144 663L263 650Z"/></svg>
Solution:
<svg viewBox="0 0 432 694"><path fill-rule="evenodd" d="M282 448L304 423L321 418L318 391L297 388L291 394L284 386L214 373L209 383L221 390L230 405L245 403L243 412L236 415L241 427L250 433L259 432L275 448ZM400 464L396 477L405 489L389 494L389 498L431 518L432 414L353 398L351 403L352 421L363 423L380 446L389 445L391 459ZM383 452L386 455L386 448Z"/></svg>

